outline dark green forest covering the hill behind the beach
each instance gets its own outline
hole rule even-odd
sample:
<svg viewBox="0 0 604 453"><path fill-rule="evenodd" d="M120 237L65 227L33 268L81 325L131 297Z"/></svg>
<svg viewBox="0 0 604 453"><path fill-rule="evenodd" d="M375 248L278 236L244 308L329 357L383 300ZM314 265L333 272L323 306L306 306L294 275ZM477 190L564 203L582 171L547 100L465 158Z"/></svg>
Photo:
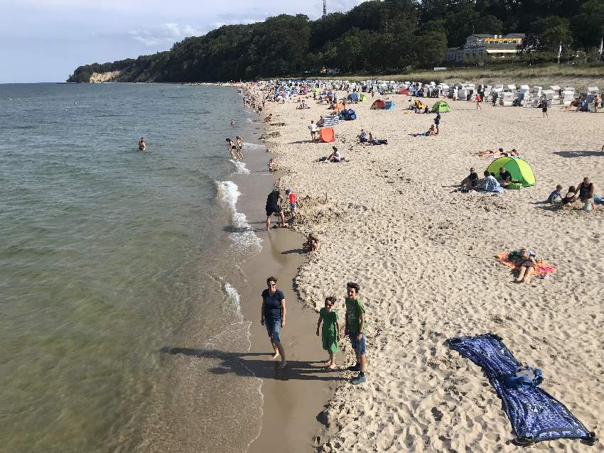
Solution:
<svg viewBox="0 0 604 453"><path fill-rule="evenodd" d="M473 33L526 33L521 60L598 58L604 0L370 0L311 21L298 14L222 26L171 50L77 67L68 82L119 70L119 82L214 82L343 72L401 72L440 64ZM591 52L590 52L591 50Z"/></svg>

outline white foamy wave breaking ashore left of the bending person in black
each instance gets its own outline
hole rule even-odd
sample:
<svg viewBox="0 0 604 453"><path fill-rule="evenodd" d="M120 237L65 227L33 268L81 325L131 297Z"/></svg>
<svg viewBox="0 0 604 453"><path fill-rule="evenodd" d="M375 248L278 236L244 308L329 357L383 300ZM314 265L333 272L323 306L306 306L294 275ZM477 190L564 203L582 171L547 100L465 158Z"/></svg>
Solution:
<svg viewBox="0 0 604 453"><path fill-rule="evenodd" d="M261 239L254 233L252 226L247 223L247 217L242 212L237 212L239 187L232 181L216 182L217 197L230 211L231 233L229 238L233 241L234 248L242 252L258 253L261 249Z"/></svg>

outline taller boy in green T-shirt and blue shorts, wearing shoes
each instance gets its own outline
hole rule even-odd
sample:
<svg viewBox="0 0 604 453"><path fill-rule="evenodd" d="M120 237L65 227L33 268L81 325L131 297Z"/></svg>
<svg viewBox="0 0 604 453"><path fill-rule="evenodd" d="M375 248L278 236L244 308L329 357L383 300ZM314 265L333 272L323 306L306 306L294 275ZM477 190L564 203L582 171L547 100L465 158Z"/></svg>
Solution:
<svg viewBox="0 0 604 453"><path fill-rule="evenodd" d="M367 356L365 354L365 306L361 302L357 295L360 291L360 286L354 282L348 282L346 284L346 293L348 295L346 300L346 324L345 334L350 337L350 343L352 349L355 350L357 356L357 364L355 366L349 366L350 371L358 371L359 375L352 378L350 381L355 386L357 384L365 382L365 370L367 369Z"/></svg>

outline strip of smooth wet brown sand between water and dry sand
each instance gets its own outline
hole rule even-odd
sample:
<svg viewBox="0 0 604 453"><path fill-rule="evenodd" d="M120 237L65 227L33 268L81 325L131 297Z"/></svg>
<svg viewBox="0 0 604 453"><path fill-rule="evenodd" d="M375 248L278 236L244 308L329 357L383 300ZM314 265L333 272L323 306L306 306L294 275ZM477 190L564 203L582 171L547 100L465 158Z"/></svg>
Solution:
<svg viewBox="0 0 604 453"><path fill-rule="evenodd" d="M259 132L264 131L263 125ZM325 382L338 379L338 373L327 372L320 366L324 357L320 339L313 334L316 314L304 307L293 288L298 269L306 262L306 256L301 253L303 236L291 229L264 230L264 197L274 185L279 186L280 179L279 173L270 174L266 170L270 157L271 153L264 150L261 154L257 150L244 154L252 175L258 177L242 182L238 203L239 210L246 214L263 239L261 252L240 266L245 278L242 312L245 319L252 322L249 352L250 356L257 357L247 361L247 367L262 379L261 430L247 451L267 452L278 444L289 452L306 453L313 450L312 439L320 435L323 428L317 416L325 408L332 388L325 386ZM269 275L279 279L279 289L286 296L286 327L282 337L288 365L282 371L276 370L278 362L271 361L266 329L259 324L260 294L266 288Z"/></svg>

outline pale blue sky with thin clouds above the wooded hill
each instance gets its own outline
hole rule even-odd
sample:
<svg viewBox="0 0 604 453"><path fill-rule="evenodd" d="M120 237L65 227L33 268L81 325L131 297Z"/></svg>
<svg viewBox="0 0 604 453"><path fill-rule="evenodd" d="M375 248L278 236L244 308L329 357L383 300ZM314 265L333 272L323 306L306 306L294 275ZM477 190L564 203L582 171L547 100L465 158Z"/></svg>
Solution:
<svg viewBox="0 0 604 453"><path fill-rule="evenodd" d="M362 1L328 0L328 12ZM65 82L80 65L169 50L225 24L316 19L323 0L0 0L0 11L0 83Z"/></svg>

